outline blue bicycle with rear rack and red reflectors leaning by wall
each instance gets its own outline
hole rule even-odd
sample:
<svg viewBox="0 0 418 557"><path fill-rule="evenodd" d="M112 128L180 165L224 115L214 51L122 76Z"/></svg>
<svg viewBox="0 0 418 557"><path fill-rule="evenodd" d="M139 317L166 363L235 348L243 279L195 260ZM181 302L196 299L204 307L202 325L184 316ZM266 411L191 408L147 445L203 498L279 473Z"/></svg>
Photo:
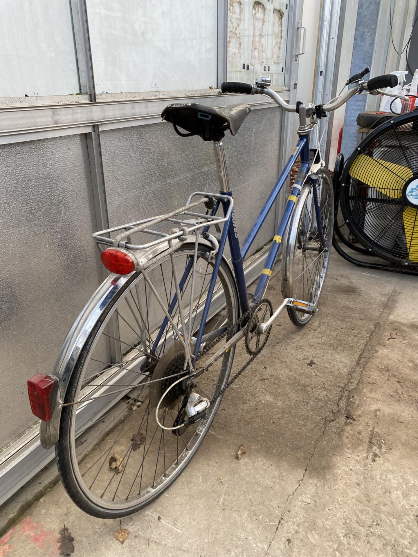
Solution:
<svg viewBox="0 0 418 557"><path fill-rule="evenodd" d="M367 84L353 76L353 88L326 105L289 105L265 77L255 85L222 84L222 92L266 95L299 116L297 145L241 246L222 139L227 130L237 133L250 106L184 102L164 109L162 118L179 135L212 141L220 193L195 192L176 211L95 233L111 274L67 335L54 373L28 381L42 446L55 444L61 481L82 510L116 518L161 495L195 454L226 388L266 345L280 312L286 307L298 326L312 319L329 263L333 190L323 163L310 164L309 134L327 112L357 92L390 85L390 77ZM298 158L249 300L244 257ZM134 243L138 235L147 240ZM280 247L284 301L273 310L264 296ZM249 360L230 379L243 339Z"/></svg>

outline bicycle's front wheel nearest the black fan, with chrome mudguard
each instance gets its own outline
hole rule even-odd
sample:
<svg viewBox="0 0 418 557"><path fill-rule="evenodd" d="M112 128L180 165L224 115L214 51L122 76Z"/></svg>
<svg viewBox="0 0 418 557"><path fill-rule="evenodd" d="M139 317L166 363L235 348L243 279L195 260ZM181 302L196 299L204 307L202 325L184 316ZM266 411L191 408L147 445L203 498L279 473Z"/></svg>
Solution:
<svg viewBox="0 0 418 557"><path fill-rule="evenodd" d="M281 291L285 298L310 302L316 309L329 263L332 244L334 198L332 179L325 169L319 169L318 202L325 246L320 240L315 214L313 185L307 184L300 193L283 243ZM290 321L302 327L312 314L288 306Z"/></svg>

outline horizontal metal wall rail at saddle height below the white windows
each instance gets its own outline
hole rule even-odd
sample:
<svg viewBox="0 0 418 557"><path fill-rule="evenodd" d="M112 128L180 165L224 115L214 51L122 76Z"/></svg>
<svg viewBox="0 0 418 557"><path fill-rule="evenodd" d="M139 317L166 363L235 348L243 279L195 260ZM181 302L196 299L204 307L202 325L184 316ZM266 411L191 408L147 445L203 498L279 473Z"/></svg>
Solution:
<svg viewBox="0 0 418 557"><path fill-rule="evenodd" d="M287 98L289 90L280 93ZM109 130L159 123L162 121L163 109L171 102L179 101L197 102L215 108L246 102L253 110L275 106L270 99L260 100L249 96L243 99L242 95L211 94L164 97L164 99L8 107L0 109L0 144L90 133L95 125L98 125L100 130Z"/></svg>

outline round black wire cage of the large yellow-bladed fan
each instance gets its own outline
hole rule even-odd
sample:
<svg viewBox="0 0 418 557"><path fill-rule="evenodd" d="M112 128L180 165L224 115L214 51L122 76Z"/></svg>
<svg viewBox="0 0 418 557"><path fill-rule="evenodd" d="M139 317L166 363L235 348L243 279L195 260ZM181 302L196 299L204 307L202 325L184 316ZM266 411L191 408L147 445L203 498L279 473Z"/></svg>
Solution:
<svg viewBox="0 0 418 557"><path fill-rule="evenodd" d="M414 203L406 196L406 184L414 185L415 178L417 110L367 135L341 179L341 211L353 236L369 252L400 265L418 266L418 196Z"/></svg>

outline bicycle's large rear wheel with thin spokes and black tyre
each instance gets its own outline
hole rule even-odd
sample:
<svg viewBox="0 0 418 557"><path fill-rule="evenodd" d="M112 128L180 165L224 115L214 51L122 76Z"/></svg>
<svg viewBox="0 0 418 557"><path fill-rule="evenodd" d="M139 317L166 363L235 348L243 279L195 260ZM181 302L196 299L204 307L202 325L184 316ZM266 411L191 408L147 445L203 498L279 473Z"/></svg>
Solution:
<svg viewBox="0 0 418 557"><path fill-rule="evenodd" d="M180 307L176 301L168 310L171 321L156 347L166 316L157 297L167 310L176 292L170 256L150 267L145 273L148 278L133 273L109 301L77 359L62 409L56 458L67 493L93 516L125 516L161 495L191 461L221 403L222 397L210 405L204 419L178 436L174 430L164 429L172 428L180 415L185 383L174 383L189 373L184 339L191 343L195 339L213 273L208 248L199 245L195 258L194 247L182 246L174 253L177 275L186 280ZM203 331L206 345L216 343L213 338L225 331L227 338L236 332L236 286L224 260L210 311ZM110 329L111 323L116 327ZM212 346L195 368L220 345L221 341ZM121 354L119 361L114 361L115 348ZM193 391L212 399L227 383L233 360L231 349L197 378ZM103 400L129 387L135 387L129 397L104 413ZM159 401L158 423L155 407Z"/></svg>

